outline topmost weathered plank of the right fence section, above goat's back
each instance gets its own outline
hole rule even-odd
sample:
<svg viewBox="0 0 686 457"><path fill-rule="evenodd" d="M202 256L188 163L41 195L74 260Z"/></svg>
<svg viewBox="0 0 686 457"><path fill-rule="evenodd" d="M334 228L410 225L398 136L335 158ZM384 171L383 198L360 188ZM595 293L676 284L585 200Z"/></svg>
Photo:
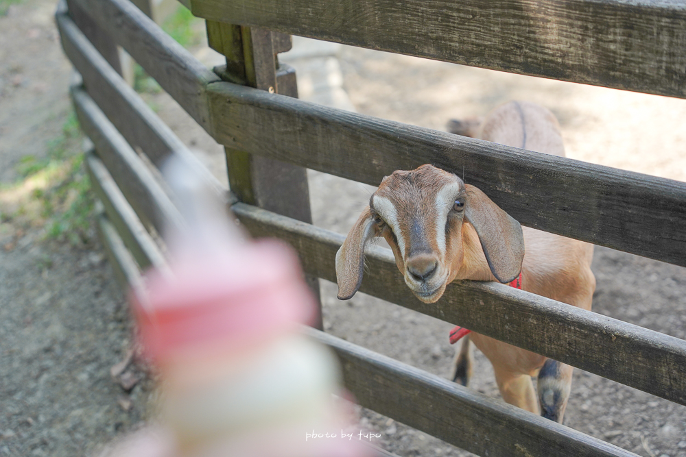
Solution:
<svg viewBox="0 0 686 457"><path fill-rule="evenodd" d="M634 0L191 0L196 16L486 69L686 97L686 6Z"/></svg>

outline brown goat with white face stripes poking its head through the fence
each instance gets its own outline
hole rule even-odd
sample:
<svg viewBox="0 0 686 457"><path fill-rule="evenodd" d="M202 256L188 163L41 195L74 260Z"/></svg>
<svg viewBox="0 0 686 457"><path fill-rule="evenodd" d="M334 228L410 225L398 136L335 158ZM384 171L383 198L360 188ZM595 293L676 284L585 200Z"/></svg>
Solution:
<svg viewBox="0 0 686 457"><path fill-rule="evenodd" d="M449 127L494 143L565 155L554 115L533 103L506 103L483 121L451 121ZM386 238L405 284L426 303L440 299L456 279L506 283L521 272L524 291L591 309L592 245L522 228L481 190L434 166L383 179L336 255L340 299L352 297L362 283L364 246L373 236ZM562 422L573 367L472 332L462 340L453 371L453 380L463 385L473 366L470 341L493 364L506 402Z"/></svg>

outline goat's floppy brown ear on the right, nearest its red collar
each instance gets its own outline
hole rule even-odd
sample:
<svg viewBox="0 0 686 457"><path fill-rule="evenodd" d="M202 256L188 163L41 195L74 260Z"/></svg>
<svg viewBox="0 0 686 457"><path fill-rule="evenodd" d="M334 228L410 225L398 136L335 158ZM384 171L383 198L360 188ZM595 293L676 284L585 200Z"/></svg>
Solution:
<svg viewBox="0 0 686 457"><path fill-rule="evenodd" d="M464 215L479 235L490 271L502 283L514 281L524 259L521 225L478 188L469 184L464 188Z"/></svg>

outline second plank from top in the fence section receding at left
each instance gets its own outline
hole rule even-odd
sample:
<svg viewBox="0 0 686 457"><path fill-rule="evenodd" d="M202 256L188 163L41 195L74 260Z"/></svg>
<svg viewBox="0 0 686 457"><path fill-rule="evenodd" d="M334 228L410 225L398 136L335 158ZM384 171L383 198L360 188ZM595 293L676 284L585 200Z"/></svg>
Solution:
<svg viewBox="0 0 686 457"><path fill-rule="evenodd" d="M98 104L126 141L160 166L174 154L187 162L193 154L123 78L102 58L71 19L56 15L62 47L82 76L88 95ZM196 167L198 168L198 167ZM226 189L206 171L203 179L226 199Z"/></svg>

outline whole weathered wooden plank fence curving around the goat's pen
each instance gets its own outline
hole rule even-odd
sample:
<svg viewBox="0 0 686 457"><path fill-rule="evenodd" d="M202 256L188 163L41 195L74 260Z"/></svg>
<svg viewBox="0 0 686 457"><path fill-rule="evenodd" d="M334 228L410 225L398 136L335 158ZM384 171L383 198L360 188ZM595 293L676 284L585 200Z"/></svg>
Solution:
<svg viewBox="0 0 686 457"><path fill-rule="evenodd" d="M126 49L226 147L231 193L255 236L293 245L318 290L344 237L311 225L305 167L367 184L425 163L471 170L523 225L686 266L686 184L495 145L298 100L276 54L298 34L348 45L686 98L686 8L609 0L186 0L226 55L213 73L128 0L62 1L71 95L93 142L98 223L124 284L166 268L152 234L182 220L158 165L190 153L117 69ZM68 5L67 5L68 4ZM86 38L88 36L88 38ZM90 38L90 40L89 40ZM143 153L147 160L143 160ZM686 341L488 282L454 282L437 304L405 287L389 251L368 249L360 291L686 405ZM530 332L536 328L536 332ZM319 330L362 406L483 456L633 456L563 425ZM554 337L553 337L554 336ZM412 404L412 408L407 405Z"/></svg>

